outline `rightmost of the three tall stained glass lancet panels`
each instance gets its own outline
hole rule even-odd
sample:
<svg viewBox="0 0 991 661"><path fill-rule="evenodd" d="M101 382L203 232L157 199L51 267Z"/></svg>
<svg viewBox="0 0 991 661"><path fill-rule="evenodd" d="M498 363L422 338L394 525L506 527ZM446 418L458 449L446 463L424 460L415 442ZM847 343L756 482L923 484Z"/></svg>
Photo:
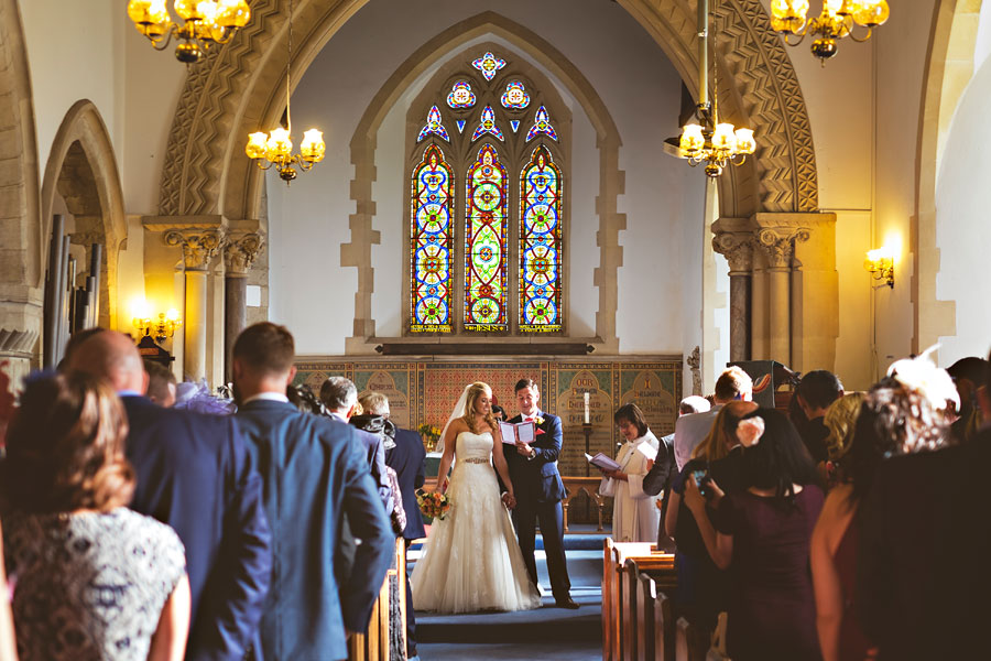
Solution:
<svg viewBox="0 0 991 661"><path fill-rule="evenodd" d="M560 171L542 145L520 175L520 330L560 329Z"/></svg>

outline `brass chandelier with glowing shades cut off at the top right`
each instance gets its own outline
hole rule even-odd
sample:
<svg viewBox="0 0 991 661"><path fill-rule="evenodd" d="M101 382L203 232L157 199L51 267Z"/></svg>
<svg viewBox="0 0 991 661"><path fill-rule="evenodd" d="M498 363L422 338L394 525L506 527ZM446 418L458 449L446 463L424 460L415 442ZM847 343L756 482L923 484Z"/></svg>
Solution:
<svg viewBox="0 0 991 661"><path fill-rule="evenodd" d="M836 55L837 40L849 36L865 42L874 28L884 24L889 13L885 0L823 0L823 13L809 19L808 0L771 0L771 28L784 35L789 46L801 44L806 34L815 36L813 55L826 66L826 61ZM858 25L867 28L863 36L853 34ZM798 40L788 41L793 35Z"/></svg>

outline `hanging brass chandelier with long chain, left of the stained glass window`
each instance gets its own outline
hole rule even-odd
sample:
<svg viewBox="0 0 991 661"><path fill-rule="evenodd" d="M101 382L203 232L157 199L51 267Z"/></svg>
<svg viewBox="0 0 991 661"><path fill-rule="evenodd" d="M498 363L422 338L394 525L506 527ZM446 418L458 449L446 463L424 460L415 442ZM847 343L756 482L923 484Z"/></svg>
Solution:
<svg viewBox="0 0 991 661"><path fill-rule="evenodd" d="M290 109L292 96L292 62L293 62L293 0L290 0L288 15L288 58L285 63L285 128L272 129L271 133L258 131L248 136L248 145L244 152L262 170L269 170L273 165L279 170L279 176L286 185L296 178L298 165L303 172L311 170L316 163L324 160L327 145L324 144L324 133L316 129L309 129L303 133L303 142L300 144L300 153L293 153L293 116Z"/></svg>

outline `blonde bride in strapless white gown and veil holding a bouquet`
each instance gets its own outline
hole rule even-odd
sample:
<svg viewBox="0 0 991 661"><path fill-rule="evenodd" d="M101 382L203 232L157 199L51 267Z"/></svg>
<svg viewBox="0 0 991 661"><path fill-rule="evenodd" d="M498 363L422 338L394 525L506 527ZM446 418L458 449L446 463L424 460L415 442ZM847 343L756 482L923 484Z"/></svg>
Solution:
<svg viewBox="0 0 991 661"><path fill-rule="evenodd" d="M541 605L499 496L496 470L507 487L505 500L515 503L491 399L486 383L465 388L440 436L437 485L451 507L443 521L434 520L410 577L416 610L525 610Z"/></svg>

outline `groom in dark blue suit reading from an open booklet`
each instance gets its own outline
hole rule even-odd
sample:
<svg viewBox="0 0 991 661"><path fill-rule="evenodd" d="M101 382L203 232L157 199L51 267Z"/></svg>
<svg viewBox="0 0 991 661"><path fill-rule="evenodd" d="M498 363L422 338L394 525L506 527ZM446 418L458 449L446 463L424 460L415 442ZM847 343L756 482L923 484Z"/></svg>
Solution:
<svg viewBox="0 0 991 661"><path fill-rule="evenodd" d="M565 488L560 474L557 473L557 457L560 455L562 443L560 419L537 408L541 392L532 379L520 380L515 393L520 415L509 422L532 420L537 430L533 443L518 442L516 452L510 452L509 447L505 452L505 462L515 491L513 525L516 528L520 550L523 552L530 578L536 585L533 548L536 522L540 521L554 600L562 608L578 608L578 604L569 594L571 582L568 579L568 565L564 553L560 499L565 496Z"/></svg>

